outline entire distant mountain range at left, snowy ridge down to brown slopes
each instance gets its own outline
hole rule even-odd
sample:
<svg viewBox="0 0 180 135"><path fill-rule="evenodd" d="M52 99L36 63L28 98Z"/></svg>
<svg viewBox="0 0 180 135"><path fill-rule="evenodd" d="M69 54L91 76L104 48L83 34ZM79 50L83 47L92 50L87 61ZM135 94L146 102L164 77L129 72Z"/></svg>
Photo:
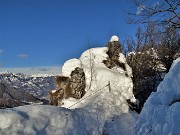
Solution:
<svg viewBox="0 0 180 135"><path fill-rule="evenodd" d="M48 90L55 89L53 75L0 74L0 107L14 107L41 102Z"/></svg>

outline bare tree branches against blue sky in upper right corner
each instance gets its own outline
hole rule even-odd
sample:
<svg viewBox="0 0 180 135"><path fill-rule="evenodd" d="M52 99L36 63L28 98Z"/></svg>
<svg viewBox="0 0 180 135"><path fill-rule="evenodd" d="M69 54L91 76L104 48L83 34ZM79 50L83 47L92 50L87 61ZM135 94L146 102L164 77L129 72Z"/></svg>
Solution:
<svg viewBox="0 0 180 135"><path fill-rule="evenodd" d="M180 28L180 0L130 0L130 3L134 11L128 12L129 23L153 21L157 25Z"/></svg>

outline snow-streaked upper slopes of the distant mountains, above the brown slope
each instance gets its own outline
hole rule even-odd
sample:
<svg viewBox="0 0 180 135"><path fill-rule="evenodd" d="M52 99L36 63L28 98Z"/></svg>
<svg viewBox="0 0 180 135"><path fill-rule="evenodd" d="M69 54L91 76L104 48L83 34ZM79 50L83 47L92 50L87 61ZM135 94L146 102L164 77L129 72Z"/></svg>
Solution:
<svg viewBox="0 0 180 135"><path fill-rule="evenodd" d="M55 89L54 75L25 75L4 72L0 81L4 81L19 91L26 91L34 97L46 97L48 90Z"/></svg>

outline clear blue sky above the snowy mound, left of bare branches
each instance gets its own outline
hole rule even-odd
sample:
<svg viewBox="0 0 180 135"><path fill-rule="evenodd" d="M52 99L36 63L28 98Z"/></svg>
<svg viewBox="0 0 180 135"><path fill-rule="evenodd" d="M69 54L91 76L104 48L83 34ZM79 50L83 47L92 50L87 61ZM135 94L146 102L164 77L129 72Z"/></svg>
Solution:
<svg viewBox="0 0 180 135"><path fill-rule="evenodd" d="M126 0L0 0L0 63L3 67L59 66L112 35L122 41ZM1 68L1 67L0 67Z"/></svg>

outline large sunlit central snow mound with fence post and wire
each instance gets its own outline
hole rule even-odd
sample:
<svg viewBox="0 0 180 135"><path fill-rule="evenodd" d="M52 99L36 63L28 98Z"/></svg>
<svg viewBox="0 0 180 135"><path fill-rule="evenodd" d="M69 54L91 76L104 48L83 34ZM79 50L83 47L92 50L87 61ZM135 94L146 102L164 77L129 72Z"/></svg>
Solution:
<svg viewBox="0 0 180 135"><path fill-rule="evenodd" d="M62 67L62 74L69 75L76 68L72 65L80 66L86 77L86 94L83 98L80 100L64 99L63 107L83 108L91 114L91 118L98 119L96 121L98 126L94 129L98 132L103 131L104 123L113 116L119 116L123 113L129 114L127 99L136 102L132 80L126 76L126 72L132 74L132 71L126 63L124 55L120 54L119 61L125 64L127 71L121 67L109 69L103 63L103 60L108 57L107 50L107 47L91 48L85 51L79 59L68 60ZM97 134L97 132L93 134Z"/></svg>

